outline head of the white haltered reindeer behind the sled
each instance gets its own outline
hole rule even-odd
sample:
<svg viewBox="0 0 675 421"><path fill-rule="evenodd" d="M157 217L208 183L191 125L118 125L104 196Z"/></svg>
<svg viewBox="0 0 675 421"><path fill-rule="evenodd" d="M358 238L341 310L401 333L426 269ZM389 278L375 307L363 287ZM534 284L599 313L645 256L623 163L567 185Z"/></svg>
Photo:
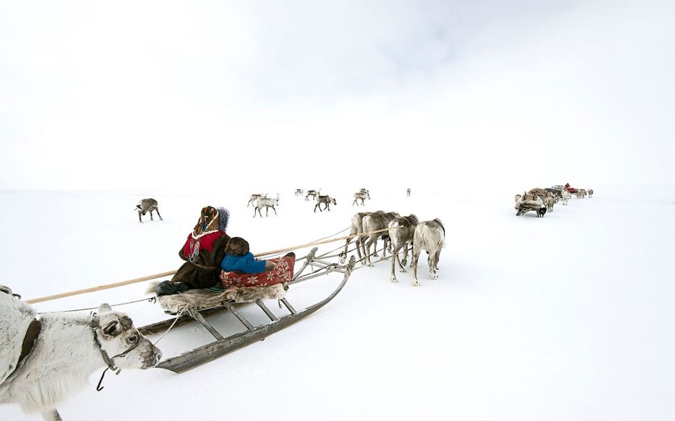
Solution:
<svg viewBox="0 0 675 421"><path fill-rule="evenodd" d="M119 368L150 368L161 359L161 351L134 328L134 322L123 312L115 312L107 304L98 307L91 320L100 349Z"/></svg>

